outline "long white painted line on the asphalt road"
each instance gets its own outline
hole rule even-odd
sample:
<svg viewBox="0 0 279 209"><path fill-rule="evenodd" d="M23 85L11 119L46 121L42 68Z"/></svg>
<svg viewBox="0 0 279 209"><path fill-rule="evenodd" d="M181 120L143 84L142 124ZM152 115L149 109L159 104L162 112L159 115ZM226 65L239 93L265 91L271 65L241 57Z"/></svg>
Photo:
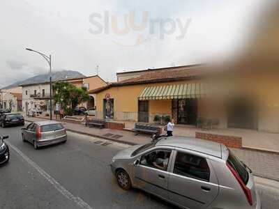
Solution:
<svg viewBox="0 0 279 209"><path fill-rule="evenodd" d="M29 157L27 157L27 155L24 155L24 153L22 153L22 151L20 151L17 147L13 146L8 141L6 141L6 144L8 144L8 146L13 148L13 150L15 150L15 152L18 155L20 155L24 160L26 160L31 165L31 167L36 169L40 173L40 175L42 175L50 184L52 184L55 187L55 189L58 192L63 194L63 196L65 196L67 199L69 199L70 201L74 201L75 203L77 203L78 206L80 206L84 209L93 209L93 208L91 208L91 206L89 206L89 204L87 204L82 199L80 199L80 197L74 196L67 189L65 189L62 185L60 185L54 178L52 178L52 176L50 176L50 174L48 174L43 169L41 169L38 166L38 164L36 164L36 162L33 162L33 160L31 160Z"/></svg>

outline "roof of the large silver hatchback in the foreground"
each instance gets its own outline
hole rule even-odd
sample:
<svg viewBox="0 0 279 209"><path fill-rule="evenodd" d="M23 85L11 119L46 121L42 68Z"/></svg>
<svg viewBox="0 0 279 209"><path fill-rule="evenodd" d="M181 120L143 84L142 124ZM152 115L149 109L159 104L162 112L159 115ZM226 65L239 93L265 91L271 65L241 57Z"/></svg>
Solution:
<svg viewBox="0 0 279 209"><path fill-rule="evenodd" d="M206 155L223 158L223 146L220 143L196 139L191 137L167 137L156 143L156 146L172 146L176 148L184 148L193 150Z"/></svg>

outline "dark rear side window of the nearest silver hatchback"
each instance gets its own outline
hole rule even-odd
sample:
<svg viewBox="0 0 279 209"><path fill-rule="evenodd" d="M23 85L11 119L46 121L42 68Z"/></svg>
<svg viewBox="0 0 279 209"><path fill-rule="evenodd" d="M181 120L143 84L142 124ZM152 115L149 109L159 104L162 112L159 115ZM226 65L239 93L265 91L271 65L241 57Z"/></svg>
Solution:
<svg viewBox="0 0 279 209"><path fill-rule="evenodd" d="M209 181L209 165L204 157L177 152L174 173L190 178Z"/></svg>

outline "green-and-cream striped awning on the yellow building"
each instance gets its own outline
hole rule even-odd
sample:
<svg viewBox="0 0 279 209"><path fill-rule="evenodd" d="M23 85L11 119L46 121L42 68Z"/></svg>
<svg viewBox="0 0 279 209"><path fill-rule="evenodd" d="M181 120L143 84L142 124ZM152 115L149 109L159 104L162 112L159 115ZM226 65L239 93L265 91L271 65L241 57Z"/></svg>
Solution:
<svg viewBox="0 0 279 209"><path fill-rule="evenodd" d="M202 83L149 86L144 88L139 100L202 98L204 95L206 92Z"/></svg>

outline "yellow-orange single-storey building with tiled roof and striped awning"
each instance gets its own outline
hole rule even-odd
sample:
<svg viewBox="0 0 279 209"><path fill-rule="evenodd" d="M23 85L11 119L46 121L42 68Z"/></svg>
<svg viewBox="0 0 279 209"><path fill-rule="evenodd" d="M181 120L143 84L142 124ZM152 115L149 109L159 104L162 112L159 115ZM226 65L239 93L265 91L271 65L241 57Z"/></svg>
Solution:
<svg viewBox="0 0 279 209"><path fill-rule="evenodd" d="M169 116L181 125L206 118L218 121L218 128L279 132L278 79L278 70L213 74L208 67L184 67L153 70L91 93L96 93L98 118L156 123Z"/></svg>

